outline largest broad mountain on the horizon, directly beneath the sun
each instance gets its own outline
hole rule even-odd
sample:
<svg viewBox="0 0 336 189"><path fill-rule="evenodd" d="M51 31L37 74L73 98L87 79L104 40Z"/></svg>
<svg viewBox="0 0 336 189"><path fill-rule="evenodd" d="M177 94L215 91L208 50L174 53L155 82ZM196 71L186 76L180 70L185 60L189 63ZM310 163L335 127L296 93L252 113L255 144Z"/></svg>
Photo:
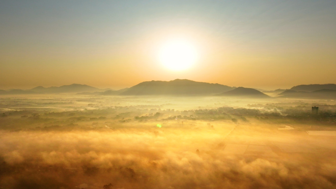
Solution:
<svg viewBox="0 0 336 189"><path fill-rule="evenodd" d="M145 81L120 95L214 95L234 89L221 84L196 82L187 79Z"/></svg>

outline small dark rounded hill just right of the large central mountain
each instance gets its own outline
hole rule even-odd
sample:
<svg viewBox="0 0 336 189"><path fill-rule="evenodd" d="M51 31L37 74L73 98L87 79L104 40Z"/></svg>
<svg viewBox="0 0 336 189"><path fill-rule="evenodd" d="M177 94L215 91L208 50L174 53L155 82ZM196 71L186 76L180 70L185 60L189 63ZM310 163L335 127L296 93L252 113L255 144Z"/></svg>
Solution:
<svg viewBox="0 0 336 189"><path fill-rule="evenodd" d="M251 97L251 98L269 98L269 95L263 94L258 90L252 88L238 87L234 90L227 91L217 96L231 96L231 97Z"/></svg>

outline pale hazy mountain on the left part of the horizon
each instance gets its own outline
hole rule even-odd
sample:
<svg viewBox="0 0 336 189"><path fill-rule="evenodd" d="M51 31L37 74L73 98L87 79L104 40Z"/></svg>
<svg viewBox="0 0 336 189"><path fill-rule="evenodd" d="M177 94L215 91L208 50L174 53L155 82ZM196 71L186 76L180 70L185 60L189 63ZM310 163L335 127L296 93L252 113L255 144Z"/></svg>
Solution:
<svg viewBox="0 0 336 189"><path fill-rule="evenodd" d="M101 89L91 87L88 85L81 85L81 84L72 84L72 85L63 85L60 87L35 87L30 91L36 93L88 93L88 92L101 92Z"/></svg>

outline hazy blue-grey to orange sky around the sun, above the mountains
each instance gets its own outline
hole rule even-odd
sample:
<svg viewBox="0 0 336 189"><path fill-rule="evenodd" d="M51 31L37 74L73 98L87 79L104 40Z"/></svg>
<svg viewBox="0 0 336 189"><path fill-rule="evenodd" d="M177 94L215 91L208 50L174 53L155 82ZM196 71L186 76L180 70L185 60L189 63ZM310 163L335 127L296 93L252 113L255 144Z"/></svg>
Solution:
<svg viewBox="0 0 336 189"><path fill-rule="evenodd" d="M1 0L0 25L0 89L336 83L335 0ZM196 49L189 69L157 58L175 38Z"/></svg>

